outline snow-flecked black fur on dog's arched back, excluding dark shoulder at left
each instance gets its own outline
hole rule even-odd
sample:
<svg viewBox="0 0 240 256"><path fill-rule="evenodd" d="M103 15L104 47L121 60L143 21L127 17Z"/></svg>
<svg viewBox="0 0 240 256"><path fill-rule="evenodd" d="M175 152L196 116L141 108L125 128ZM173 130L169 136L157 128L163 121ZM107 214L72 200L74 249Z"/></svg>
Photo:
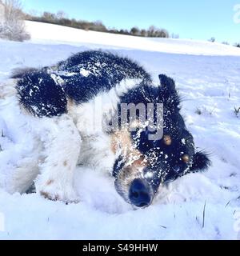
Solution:
<svg viewBox="0 0 240 256"><path fill-rule="evenodd" d="M84 77L79 74L81 69L90 71L90 74ZM141 78L142 81L150 81L150 75L135 62L102 51L75 54L59 62L54 73L65 81L63 87L66 94L78 103L88 102L100 91L110 90L122 79ZM73 73L71 77L68 76L70 73Z"/></svg>

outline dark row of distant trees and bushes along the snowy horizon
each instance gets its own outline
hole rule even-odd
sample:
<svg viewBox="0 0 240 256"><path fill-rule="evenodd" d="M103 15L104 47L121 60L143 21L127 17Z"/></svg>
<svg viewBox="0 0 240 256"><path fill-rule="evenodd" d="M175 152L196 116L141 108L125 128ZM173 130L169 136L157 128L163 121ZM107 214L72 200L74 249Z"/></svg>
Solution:
<svg viewBox="0 0 240 256"><path fill-rule="evenodd" d="M117 30L115 28L107 28L102 21L87 22L85 20L77 20L75 18L67 18L67 15L63 11L58 11L57 14L50 12L43 12L41 16L36 14L26 14L26 19L33 22L45 22L62 26L70 26L81 30L93 30L99 32L108 32L113 34L126 34L139 37L150 38L179 38L178 34L169 34L165 29L157 28L156 26L150 26L147 30L139 29L138 26L132 27L130 30Z"/></svg>

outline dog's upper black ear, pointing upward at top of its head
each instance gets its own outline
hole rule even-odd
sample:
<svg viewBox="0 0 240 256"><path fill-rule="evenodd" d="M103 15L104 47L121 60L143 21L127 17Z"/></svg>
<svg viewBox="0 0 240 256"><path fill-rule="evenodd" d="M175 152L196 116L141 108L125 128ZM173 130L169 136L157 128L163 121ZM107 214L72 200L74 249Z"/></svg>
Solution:
<svg viewBox="0 0 240 256"><path fill-rule="evenodd" d="M158 78L161 83L162 102L166 106L178 107L180 98L175 87L175 82L172 78L167 77L165 74L159 74Z"/></svg>

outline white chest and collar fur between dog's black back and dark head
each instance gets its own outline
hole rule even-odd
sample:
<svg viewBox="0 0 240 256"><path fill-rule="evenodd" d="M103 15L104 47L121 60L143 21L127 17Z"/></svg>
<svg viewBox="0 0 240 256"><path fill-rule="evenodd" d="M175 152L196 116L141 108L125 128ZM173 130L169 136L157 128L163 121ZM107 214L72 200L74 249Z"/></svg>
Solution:
<svg viewBox="0 0 240 256"><path fill-rule="evenodd" d="M98 94L90 102L69 107L69 114L82 135L80 164L98 167L98 170L108 173L112 171L115 155L110 150L106 123L117 110L119 97L138 86L139 82L139 79L123 80L113 89ZM107 161L102 161L103 159Z"/></svg>

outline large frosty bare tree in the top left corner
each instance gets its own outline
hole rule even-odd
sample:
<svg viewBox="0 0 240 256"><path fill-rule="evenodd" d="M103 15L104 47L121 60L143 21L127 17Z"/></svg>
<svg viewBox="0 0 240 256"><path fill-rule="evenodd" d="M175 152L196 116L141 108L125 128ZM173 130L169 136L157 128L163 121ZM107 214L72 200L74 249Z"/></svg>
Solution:
<svg viewBox="0 0 240 256"><path fill-rule="evenodd" d="M30 39L25 30L21 3L18 0L6 0L3 6L4 22L0 26L0 37L21 42Z"/></svg>

